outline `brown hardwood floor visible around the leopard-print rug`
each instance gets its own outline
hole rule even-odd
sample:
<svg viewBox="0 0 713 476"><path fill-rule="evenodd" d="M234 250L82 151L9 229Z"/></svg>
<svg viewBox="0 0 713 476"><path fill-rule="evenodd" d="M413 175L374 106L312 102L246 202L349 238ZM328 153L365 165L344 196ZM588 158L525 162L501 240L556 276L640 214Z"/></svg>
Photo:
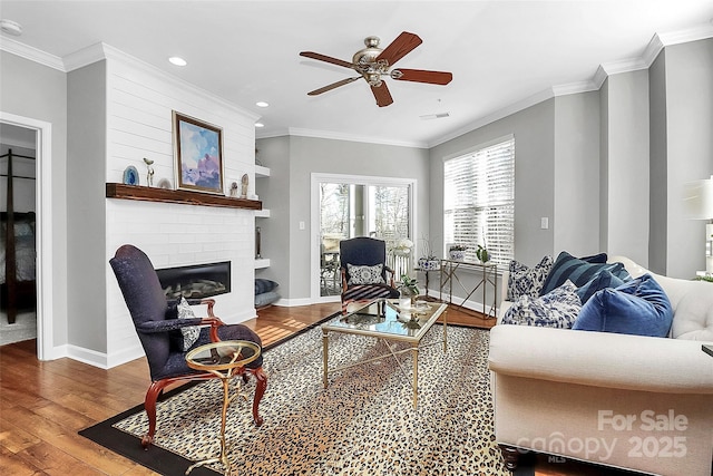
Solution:
<svg viewBox="0 0 713 476"><path fill-rule="evenodd" d="M270 307L246 324L276 342L338 311L340 303ZM495 322L451 307L448 322L489 328ZM77 431L144 401L146 359L98 369L71 359L37 360L36 340L0 347L0 468L3 475L155 475ZM138 444L138 441L137 441ZM547 466L547 465L545 465ZM575 475L565 465L538 476ZM594 473L593 473L594 474Z"/></svg>

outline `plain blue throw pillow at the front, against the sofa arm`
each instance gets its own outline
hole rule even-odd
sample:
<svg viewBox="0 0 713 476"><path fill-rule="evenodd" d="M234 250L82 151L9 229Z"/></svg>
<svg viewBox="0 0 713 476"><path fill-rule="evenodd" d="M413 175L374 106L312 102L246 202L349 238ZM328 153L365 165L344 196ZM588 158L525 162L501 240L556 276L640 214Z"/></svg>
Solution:
<svg viewBox="0 0 713 476"><path fill-rule="evenodd" d="M617 289L597 291L582 308L575 330L666 337L673 309L664 290L644 274Z"/></svg>

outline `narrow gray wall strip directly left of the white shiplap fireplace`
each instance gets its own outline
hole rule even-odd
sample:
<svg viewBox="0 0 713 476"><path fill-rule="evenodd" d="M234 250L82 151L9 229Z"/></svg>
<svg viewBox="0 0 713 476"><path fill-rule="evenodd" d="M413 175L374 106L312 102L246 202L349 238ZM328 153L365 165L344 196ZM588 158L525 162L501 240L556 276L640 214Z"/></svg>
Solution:
<svg viewBox="0 0 713 476"><path fill-rule="evenodd" d="M97 265L106 264L106 61L67 75L69 343L97 352L108 339L106 268Z"/></svg>

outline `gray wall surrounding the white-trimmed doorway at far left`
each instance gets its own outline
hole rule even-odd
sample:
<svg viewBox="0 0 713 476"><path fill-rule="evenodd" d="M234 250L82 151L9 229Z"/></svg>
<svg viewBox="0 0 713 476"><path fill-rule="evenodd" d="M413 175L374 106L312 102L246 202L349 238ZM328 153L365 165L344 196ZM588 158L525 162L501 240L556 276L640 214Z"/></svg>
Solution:
<svg viewBox="0 0 713 476"><path fill-rule="evenodd" d="M56 69L0 51L0 108L52 125L52 343L67 343L67 78ZM72 175L71 177L76 177ZM38 186L41 184L38 182Z"/></svg>

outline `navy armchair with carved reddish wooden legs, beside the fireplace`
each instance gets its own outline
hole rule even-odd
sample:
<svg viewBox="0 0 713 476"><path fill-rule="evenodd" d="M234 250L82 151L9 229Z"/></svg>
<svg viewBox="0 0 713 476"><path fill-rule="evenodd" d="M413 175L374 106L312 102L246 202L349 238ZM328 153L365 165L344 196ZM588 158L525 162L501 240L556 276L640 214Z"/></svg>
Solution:
<svg viewBox="0 0 713 476"><path fill-rule="evenodd" d="M148 256L133 245L124 245L109 260L124 300L131 314L138 338L146 352L152 385L146 392L144 408L148 416L148 433L141 439L144 448L148 448L156 431L156 400L166 386L191 380L209 380L217 378L214 373L201 372L188 367L186 353L198 346L218 340L247 340L262 347L260 337L243 324L224 324L213 313L215 301L212 299L187 300L189 304L206 304L207 318L177 319L177 303L168 302ZM188 350L183 350L177 342L182 341L180 328L201 326L198 339ZM244 356L250 357L250 356ZM253 420L260 426L263 422L258 414L260 400L267 388L267 377L262 369L263 358L247 363L240 372L245 381L248 375L256 379L253 399Z"/></svg>

